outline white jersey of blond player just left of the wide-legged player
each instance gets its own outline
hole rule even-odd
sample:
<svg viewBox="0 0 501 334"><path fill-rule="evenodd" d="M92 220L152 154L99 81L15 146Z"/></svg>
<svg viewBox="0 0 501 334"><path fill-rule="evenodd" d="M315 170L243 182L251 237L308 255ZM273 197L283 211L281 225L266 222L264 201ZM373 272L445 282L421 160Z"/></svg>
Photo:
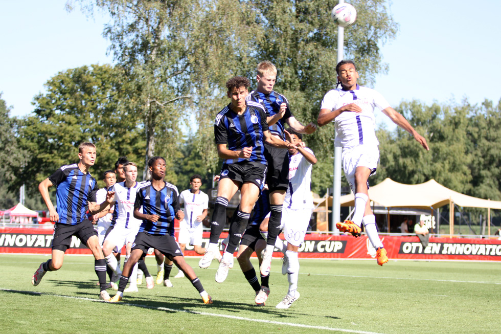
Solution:
<svg viewBox="0 0 501 334"><path fill-rule="evenodd" d="M110 190L115 191L115 212L113 212L113 218L111 219L111 226L113 228L123 227L123 228L136 228L141 226L143 222L140 219L134 218L134 202L135 195L140 188L141 183L136 182L131 188L125 186L125 181L116 183Z"/></svg>

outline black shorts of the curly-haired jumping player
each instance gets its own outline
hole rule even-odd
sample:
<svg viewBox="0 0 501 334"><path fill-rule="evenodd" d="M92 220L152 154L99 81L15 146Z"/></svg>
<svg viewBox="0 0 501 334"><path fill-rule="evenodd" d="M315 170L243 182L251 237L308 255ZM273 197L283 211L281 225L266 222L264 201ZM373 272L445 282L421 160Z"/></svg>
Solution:
<svg viewBox="0 0 501 334"><path fill-rule="evenodd" d="M223 164L220 179L231 179L241 184L252 182L258 186L259 189L263 189L266 170L266 165L255 161Z"/></svg>

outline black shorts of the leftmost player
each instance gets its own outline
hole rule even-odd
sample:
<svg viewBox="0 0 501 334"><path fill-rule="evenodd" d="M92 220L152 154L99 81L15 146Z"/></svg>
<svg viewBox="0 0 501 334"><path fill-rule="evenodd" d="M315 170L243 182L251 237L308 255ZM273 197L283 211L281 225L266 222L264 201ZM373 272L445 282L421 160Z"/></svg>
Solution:
<svg viewBox="0 0 501 334"><path fill-rule="evenodd" d="M82 243L87 246L87 241L93 235L98 236L94 225L90 220L85 219L77 225L59 224L54 225L54 237L52 239L52 249L66 252L70 248L72 236L76 235Z"/></svg>

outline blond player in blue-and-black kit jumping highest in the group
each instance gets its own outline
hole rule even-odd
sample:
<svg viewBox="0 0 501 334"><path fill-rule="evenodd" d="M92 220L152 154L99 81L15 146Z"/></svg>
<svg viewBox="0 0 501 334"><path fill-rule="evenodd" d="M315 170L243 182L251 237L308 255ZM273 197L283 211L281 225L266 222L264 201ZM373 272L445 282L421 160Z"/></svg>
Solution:
<svg viewBox="0 0 501 334"><path fill-rule="evenodd" d="M248 101L260 103L267 116L269 131L272 136L285 140L284 126L287 123L294 131L299 133L313 133L316 125L309 123L302 125L290 112L289 101L273 90L277 80L277 68L269 61L263 61L257 67L257 88L250 92ZM282 220L282 206L284 204L285 192L288 187L287 174L289 172L289 159L287 151L272 147L265 143L264 156L268 162L268 173L266 184L269 188L270 218L268 229L263 235L266 237L266 251L263 254L263 261L260 266L261 275L268 275L271 266L271 256L277 236L280 233L280 223Z"/></svg>

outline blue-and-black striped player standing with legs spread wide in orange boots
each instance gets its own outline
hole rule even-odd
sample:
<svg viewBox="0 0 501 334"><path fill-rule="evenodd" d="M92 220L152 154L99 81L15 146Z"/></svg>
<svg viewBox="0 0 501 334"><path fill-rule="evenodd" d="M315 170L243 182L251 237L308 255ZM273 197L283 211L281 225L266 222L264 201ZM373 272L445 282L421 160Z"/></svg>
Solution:
<svg viewBox="0 0 501 334"><path fill-rule="evenodd" d="M186 263L183 253L171 233L174 231L174 217L183 219L184 213L179 209L179 194L177 188L164 181L165 159L153 157L148 161L151 180L141 184L136 194L134 203L134 217L143 222L139 233L134 240L134 246L127 263L124 265L118 292L110 302L122 300L129 275L136 262L144 258L149 248L159 250L164 256L173 261L188 277L193 286L198 290L203 303L211 304L212 299L203 290L202 283L195 275L191 266ZM143 213L140 208L143 207Z"/></svg>

